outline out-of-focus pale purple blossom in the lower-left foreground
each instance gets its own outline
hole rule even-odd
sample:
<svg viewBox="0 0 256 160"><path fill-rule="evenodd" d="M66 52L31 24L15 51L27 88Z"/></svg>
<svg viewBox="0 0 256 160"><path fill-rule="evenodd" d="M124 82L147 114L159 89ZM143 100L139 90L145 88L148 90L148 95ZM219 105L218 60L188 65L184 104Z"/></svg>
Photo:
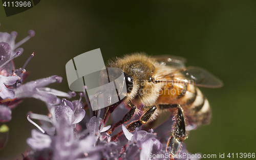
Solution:
<svg viewBox="0 0 256 160"><path fill-rule="evenodd" d="M69 160L84 158L84 153L94 150L94 144L97 140L94 136L87 136L87 138L79 140L75 136L72 125L63 117L55 125L56 134L52 136L32 130L32 138L27 140L29 146L34 150L31 152L32 155L29 155L30 157ZM52 157L49 152L53 153ZM42 156L42 153L47 154Z"/></svg>

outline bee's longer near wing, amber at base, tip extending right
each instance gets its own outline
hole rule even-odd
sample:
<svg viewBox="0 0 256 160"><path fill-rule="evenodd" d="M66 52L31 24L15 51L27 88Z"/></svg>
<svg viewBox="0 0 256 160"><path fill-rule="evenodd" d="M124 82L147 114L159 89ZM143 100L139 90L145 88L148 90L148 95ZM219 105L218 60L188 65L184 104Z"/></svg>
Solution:
<svg viewBox="0 0 256 160"><path fill-rule="evenodd" d="M167 75L155 77L155 79L160 82L189 83L207 88L219 88L223 86L223 82L219 78L203 68L195 66L178 69Z"/></svg>

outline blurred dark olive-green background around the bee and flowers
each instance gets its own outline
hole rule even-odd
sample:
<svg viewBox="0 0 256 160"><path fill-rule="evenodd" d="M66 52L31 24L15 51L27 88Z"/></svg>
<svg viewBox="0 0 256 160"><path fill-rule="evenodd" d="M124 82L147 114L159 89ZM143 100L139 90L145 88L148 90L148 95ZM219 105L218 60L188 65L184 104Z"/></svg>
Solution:
<svg viewBox="0 0 256 160"><path fill-rule="evenodd" d="M224 87L202 88L212 108L210 125L190 132L191 153L253 153L255 150L256 1L41 1L6 17L0 3L1 32L17 31L16 42L35 36L14 59L22 67L31 53L26 81L58 75L50 87L68 92L65 65L97 48L105 62L133 52L171 54L218 76ZM46 105L25 99L12 112L9 142L0 159L21 159L35 128L26 113L47 114Z"/></svg>

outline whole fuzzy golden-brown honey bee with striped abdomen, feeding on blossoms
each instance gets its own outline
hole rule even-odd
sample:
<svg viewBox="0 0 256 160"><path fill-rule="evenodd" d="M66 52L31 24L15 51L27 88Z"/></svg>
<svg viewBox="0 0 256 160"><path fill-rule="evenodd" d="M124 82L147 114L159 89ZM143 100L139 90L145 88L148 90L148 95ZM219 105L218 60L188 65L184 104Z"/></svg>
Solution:
<svg viewBox="0 0 256 160"><path fill-rule="evenodd" d="M141 110L142 116L126 126L130 132L136 127L153 122L163 111L172 111L175 113L175 123L166 150L170 147L169 152L176 155L181 142L188 136L188 124L208 124L211 118L208 100L197 86L217 88L223 85L220 79L206 70L185 67L184 63L185 59L181 57L150 57L144 53L126 55L109 61L107 68L122 69L127 94L122 101L105 109L104 123L106 117L121 102L129 106L130 110L106 133L111 134L116 127L130 121L138 110Z"/></svg>

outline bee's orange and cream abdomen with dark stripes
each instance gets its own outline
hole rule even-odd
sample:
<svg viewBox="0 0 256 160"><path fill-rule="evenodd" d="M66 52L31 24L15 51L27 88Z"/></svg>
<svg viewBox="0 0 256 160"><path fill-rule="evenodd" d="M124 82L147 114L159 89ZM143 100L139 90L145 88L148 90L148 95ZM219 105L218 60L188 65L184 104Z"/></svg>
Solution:
<svg viewBox="0 0 256 160"><path fill-rule="evenodd" d="M157 100L158 104L180 104L187 120L197 125L208 124L211 111L208 100L194 85L165 85Z"/></svg>

